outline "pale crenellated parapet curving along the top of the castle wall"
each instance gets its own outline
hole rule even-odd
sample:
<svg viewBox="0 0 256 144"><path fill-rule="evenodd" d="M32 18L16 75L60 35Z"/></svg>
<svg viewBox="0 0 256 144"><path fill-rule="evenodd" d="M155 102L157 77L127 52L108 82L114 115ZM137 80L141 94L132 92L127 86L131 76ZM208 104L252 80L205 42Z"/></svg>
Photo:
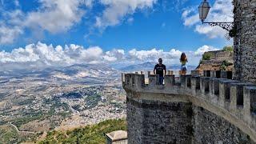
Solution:
<svg viewBox="0 0 256 144"><path fill-rule="evenodd" d="M195 105L225 118L256 142L256 86L250 82L232 80L229 71L197 71L175 78L168 72L164 85L158 85L158 75L148 72L148 82L143 72L122 74L122 86L127 94L165 94L186 99ZM179 80L178 80L179 79ZM127 95L128 97L128 95ZM133 96L131 96L133 97ZM132 98L133 99L133 98ZM136 97L142 100L143 98Z"/></svg>

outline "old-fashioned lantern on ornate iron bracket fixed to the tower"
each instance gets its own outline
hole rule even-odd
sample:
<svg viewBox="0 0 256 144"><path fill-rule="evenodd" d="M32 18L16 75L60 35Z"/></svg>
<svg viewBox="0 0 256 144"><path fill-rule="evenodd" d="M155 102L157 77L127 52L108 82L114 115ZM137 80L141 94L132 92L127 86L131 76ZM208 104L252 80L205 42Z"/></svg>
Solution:
<svg viewBox="0 0 256 144"><path fill-rule="evenodd" d="M201 19L202 24L209 24L210 26L220 26L230 32L230 37L234 37L234 22L205 22L207 15L210 11L210 4L209 2L207 2L207 0L203 0L203 2L201 2L198 10L199 18Z"/></svg>

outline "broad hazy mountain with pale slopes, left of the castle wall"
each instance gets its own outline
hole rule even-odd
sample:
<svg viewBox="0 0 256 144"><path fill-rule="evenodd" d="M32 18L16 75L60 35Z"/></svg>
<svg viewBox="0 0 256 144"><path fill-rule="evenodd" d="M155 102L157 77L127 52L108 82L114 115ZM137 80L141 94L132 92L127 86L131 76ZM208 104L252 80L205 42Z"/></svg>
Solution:
<svg viewBox="0 0 256 144"><path fill-rule="evenodd" d="M102 64L76 64L66 67L50 67L44 70L6 70L0 71L0 82L5 78L33 78L46 81L66 82L104 82L120 78L121 72Z"/></svg>

